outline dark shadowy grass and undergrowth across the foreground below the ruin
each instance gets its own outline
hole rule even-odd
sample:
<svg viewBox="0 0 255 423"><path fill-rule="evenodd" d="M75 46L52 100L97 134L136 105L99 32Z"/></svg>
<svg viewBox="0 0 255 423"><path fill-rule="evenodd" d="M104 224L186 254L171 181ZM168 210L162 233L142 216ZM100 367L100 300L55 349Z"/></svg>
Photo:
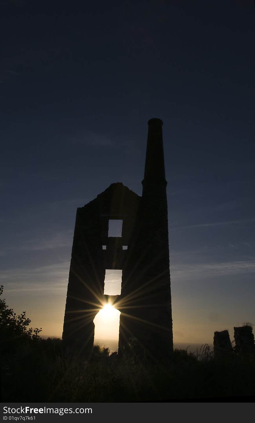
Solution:
<svg viewBox="0 0 255 423"><path fill-rule="evenodd" d="M70 357L60 339L23 345L2 363L2 401L175 401L255 395L255 355L214 360L210 347L176 350L171 360L150 363L134 354L119 358L95 346L90 362Z"/></svg>

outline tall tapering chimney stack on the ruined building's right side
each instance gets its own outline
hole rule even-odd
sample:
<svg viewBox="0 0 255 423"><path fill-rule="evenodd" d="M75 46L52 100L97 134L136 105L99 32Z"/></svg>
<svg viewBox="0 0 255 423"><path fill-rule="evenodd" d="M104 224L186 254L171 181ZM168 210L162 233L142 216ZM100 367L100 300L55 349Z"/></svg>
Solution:
<svg viewBox="0 0 255 423"><path fill-rule="evenodd" d="M161 119L148 121L148 138L141 204L141 228L144 249L147 247L145 273L142 283L148 283L151 309L147 319L151 321L151 341L157 344L154 355L168 355L173 352L173 324L171 307L167 181ZM157 328L157 329L156 329ZM152 341L153 342L153 341Z"/></svg>

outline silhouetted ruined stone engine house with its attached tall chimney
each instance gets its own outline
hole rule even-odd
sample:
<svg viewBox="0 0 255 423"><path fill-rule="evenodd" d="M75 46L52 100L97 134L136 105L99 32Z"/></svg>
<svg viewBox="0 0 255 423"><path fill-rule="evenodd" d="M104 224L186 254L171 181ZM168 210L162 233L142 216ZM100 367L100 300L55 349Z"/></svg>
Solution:
<svg viewBox="0 0 255 423"><path fill-rule="evenodd" d="M121 312L118 354L130 339L156 359L173 351L162 124L148 121L142 196L117 182L77 209L63 326L75 352L91 354L93 319L107 301ZM108 236L110 220L122 220L121 236ZM104 295L108 269L122 270L120 295Z"/></svg>

